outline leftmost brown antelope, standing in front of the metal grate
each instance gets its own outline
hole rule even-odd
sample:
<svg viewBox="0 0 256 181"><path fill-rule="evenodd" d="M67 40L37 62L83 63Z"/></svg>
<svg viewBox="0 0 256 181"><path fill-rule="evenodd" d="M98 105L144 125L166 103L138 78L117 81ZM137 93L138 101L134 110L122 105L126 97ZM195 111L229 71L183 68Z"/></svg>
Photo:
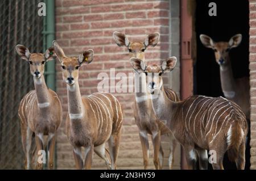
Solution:
<svg viewBox="0 0 256 181"><path fill-rule="evenodd" d="M22 145L26 155L25 168L31 169L31 142L35 134L36 150L43 150L48 145L48 167L53 169L53 156L57 129L62 119L62 108L57 94L48 89L44 81L44 65L55 58L53 48L46 53L30 53L23 45L16 45L19 56L30 64L30 73L34 77L35 90L26 94L19 105L19 118L22 133ZM44 136L48 136L47 142ZM38 162L36 169L42 169Z"/></svg>

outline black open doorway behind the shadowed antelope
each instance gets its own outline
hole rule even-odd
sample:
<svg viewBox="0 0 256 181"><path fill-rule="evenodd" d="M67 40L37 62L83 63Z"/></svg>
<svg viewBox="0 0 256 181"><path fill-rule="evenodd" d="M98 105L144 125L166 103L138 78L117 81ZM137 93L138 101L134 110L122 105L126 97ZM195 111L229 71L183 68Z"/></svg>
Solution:
<svg viewBox="0 0 256 181"><path fill-rule="evenodd" d="M209 16L209 3L217 5L217 16ZM205 34L214 41L229 41L237 33L242 34L241 44L230 50L234 78L249 77L249 1L196 0L197 60L194 66L194 94L224 96L221 91L220 68L212 49L205 48L199 39ZM249 127L250 128L250 127ZM249 139L250 140L250 139ZM211 167L211 166L210 166ZM250 167L250 147L246 146L246 169ZM236 169L225 156L225 169Z"/></svg>

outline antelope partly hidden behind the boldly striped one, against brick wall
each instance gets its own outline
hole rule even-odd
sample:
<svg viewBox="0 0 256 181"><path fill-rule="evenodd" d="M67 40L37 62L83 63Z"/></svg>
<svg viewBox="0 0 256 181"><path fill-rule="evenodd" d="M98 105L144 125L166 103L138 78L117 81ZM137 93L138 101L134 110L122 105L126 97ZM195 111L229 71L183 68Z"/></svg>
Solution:
<svg viewBox="0 0 256 181"><path fill-rule="evenodd" d="M144 42L134 41L130 42L128 37L123 33L114 32L113 37L115 43L119 47L127 47L129 50L129 55L131 57L141 58L145 60L144 51L148 46L155 47L159 41L159 33L152 33L146 37ZM152 143L154 146L154 165L156 169L162 169L163 166L163 149L160 144L160 136L163 134L168 134L170 137L170 155L169 155L169 168L172 169L174 163L174 150L176 146L176 141L172 137L170 130L163 124L162 121L159 121L153 110L151 102L148 100L148 93L146 88L146 76L144 74L139 75L135 72L135 90L141 90L135 92L135 101L134 101L134 118L135 122L139 128L139 138L142 144L143 151L143 160L144 160L144 169L148 167L148 136L147 134L152 135ZM141 81L140 81L141 77ZM164 88L168 98L174 101L179 100L179 96L172 91L171 89ZM160 159L160 160L159 160Z"/></svg>

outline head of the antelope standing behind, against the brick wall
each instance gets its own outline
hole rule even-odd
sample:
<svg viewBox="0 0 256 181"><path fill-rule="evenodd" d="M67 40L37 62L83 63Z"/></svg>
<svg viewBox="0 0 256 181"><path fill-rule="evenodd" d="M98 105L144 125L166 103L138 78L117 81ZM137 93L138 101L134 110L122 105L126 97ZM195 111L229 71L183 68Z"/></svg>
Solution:
<svg viewBox="0 0 256 181"><path fill-rule="evenodd" d="M130 42L125 34L117 31L113 33L113 37L115 43L119 47L127 47L130 57L140 58L141 60L144 60L144 51L147 49L148 46L155 47L155 45L158 44L160 35L159 33L152 33L146 37L144 42Z"/></svg>

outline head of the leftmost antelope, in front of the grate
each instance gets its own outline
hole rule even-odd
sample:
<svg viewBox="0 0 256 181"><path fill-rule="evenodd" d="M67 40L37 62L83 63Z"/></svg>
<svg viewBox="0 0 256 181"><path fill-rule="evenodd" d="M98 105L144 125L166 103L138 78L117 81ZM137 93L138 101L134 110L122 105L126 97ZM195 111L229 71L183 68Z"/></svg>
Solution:
<svg viewBox="0 0 256 181"><path fill-rule="evenodd" d="M48 48L46 53L30 53L24 45L16 45L16 52L30 64L30 73L38 79L44 74L45 63L56 57L53 47Z"/></svg>

